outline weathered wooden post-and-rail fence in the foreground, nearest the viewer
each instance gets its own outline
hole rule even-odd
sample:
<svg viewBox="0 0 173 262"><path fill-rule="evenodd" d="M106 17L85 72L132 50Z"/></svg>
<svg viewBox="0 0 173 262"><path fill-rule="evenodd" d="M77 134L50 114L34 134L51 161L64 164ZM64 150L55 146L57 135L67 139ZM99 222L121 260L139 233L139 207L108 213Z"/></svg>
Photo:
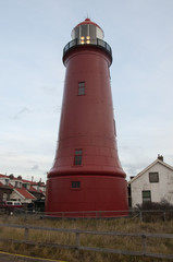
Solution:
<svg viewBox="0 0 173 262"><path fill-rule="evenodd" d="M35 227L30 225L12 225L12 224L0 224L0 227L3 228L21 228L24 229L24 237L23 239L13 239L13 238L2 238L0 237L0 241L8 241L8 242L15 242L15 243L26 243L33 246L42 246L42 247L53 247L60 249L72 249L72 250L84 250L84 251L95 251L95 252L107 252L107 253L114 253L114 254L125 254L125 255L141 255L141 257L149 257L149 258L159 258L159 259L170 259L173 260L173 249L170 254L165 253L153 253L147 252L147 240L148 239L173 239L173 234L134 234L134 233L120 233L120 231L89 231L89 230L78 230L78 229L64 229L64 228L50 228L50 227ZM29 240L29 233L30 230L41 230L41 231L53 231L53 233L66 233L66 234L74 234L74 245L64 245L64 243L55 243L55 242L37 242ZM120 250L120 249L110 249L110 248L100 248L100 247L89 247L83 246L81 243L81 236L82 235L101 235L101 236L113 236L113 237L129 237L129 238L140 238L141 242L141 250ZM171 243L173 246L173 243Z"/></svg>

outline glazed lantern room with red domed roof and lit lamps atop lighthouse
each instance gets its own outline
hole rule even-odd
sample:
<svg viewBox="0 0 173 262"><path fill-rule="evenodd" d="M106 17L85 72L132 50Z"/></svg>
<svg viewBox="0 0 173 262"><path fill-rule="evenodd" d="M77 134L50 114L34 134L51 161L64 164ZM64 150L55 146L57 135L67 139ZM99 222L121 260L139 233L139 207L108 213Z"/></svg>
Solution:
<svg viewBox="0 0 173 262"><path fill-rule="evenodd" d="M103 39L103 31L90 19L86 19L72 31L72 40L78 39L81 44L95 44L97 38Z"/></svg>

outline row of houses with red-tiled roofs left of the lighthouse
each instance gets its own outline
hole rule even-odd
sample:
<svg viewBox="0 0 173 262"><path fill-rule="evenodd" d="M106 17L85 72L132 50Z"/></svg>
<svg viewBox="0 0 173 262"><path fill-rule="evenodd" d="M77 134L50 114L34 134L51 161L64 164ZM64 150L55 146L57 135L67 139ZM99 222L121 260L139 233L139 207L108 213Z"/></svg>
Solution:
<svg viewBox="0 0 173 262"><path fill-rule="evenodd" d="M0 203L7 201L17 201L24 206L45 202L46 184L45 182L36 182L23 179L22 176L0 174Z"/></svg>

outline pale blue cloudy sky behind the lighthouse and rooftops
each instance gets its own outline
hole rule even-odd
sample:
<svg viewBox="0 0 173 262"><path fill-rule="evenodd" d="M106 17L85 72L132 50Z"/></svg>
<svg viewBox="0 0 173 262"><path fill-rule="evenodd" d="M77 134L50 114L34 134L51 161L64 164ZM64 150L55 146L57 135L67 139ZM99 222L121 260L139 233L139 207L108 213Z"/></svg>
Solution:
<svg viewBox="0 0 173 262"><path fill-rule="evenodd" d="M119 156L173 165L172 0L0 0L0 172L46 180L58 139L63 47L87 15L113 51Z"/></svg>

